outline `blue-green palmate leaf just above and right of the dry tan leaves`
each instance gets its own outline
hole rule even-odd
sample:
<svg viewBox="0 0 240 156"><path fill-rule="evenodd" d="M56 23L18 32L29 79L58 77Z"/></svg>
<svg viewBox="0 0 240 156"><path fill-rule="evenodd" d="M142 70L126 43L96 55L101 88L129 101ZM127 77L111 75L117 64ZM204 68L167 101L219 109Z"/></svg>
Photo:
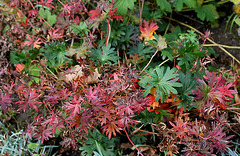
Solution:
<svg viewBox="0 0 240 156"><path fill-rule="evenodd" d="M117 63L119 57L117 52L114 51L114 48L111 48L111 44L103 46L97 49L91 49L91 52L88 52L90 59L95 62L96 65L104 65L105 63L114 64Z"/></svg>

